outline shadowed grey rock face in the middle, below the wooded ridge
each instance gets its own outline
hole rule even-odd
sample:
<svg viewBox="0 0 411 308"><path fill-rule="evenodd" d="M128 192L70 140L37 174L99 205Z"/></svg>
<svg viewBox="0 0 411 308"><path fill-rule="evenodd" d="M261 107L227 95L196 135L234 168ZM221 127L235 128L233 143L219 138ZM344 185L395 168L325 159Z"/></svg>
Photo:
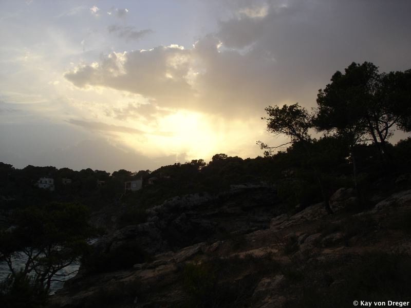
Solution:
<svg viewBox="0 0 411 308"><path fill-rule="evenodd" d="M241 186L217 195L174 197L148 209L146 223L116 230L95 246L109 252L134 241L153 255L241 230L268 228L270 217L281 211L271 186Z"/></svg>

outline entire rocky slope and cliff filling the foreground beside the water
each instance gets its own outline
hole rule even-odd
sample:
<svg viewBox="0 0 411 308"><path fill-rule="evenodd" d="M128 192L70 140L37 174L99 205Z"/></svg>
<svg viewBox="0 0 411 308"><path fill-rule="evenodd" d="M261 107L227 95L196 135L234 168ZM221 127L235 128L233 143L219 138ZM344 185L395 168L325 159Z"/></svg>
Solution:
<svg viewBox="0 0 411 308"><path fill-rule="evenodd" d="M348 307L411 295L411 190L356 210L352 189L286 214L273 187L167 200L146 223L96 243L108 254L136 243L150 258L83 270L53 307Z"/></svg>

